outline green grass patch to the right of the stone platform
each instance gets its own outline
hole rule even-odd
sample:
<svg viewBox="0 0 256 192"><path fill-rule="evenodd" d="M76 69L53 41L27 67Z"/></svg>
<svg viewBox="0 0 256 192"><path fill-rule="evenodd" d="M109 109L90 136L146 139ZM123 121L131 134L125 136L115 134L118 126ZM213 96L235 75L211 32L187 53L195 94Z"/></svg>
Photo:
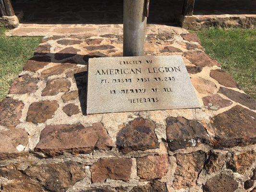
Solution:
<svg viewBox="0 0 256 192"><path fill-rule="evenodd" d="M256 29L210 28L195 33L207 54L256 98Z"/></svg>

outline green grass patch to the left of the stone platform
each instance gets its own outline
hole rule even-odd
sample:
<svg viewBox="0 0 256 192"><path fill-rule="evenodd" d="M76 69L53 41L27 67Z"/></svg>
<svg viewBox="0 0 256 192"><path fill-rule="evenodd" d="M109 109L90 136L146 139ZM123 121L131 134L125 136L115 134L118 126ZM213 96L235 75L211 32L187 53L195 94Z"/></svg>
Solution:
<svg viewBox="0 0 256 192"><path fill-rule="evenodd" d="M9 37L5 31L5 27L0 27L0 101L41 40L41 37Z"/></svg>

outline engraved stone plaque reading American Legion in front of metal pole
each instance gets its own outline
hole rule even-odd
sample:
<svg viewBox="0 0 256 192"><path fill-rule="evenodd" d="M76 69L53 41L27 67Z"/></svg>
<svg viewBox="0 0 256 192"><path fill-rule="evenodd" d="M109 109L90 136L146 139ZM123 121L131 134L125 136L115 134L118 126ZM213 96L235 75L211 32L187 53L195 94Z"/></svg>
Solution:
<svg viewBox="0 0 256 192"><path fill-rule="evenodd" d="M89 59L87 114L200 108L181 56Z"/></svg>

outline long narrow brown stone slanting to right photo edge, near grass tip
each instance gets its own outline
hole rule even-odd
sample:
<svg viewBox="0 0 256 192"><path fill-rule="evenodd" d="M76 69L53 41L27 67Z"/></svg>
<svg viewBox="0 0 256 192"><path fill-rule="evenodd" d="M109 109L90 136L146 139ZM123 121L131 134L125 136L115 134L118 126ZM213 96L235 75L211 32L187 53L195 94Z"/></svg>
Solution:
<svg viewBox="0 0 256 192"><path fill-rule="evenodd" d="M229 97L231 100L238 102L247 108L256 110L256 100L250 96L247 96L244 93L240 93L225 87L220 87L219 92L223 94L224 96Z"/></svg>

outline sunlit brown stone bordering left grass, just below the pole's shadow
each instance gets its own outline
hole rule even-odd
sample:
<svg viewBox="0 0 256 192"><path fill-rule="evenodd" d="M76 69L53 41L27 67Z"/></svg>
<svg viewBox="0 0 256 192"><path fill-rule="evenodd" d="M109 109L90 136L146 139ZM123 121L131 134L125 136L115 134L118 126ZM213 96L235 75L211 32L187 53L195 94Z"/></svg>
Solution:
<svg viewBox="0 0 256 192"><path fill-rule="evenodd" d="M38 79L23 75L11 84L9 94L35 93L38 89L37 83Z"/></svg>

